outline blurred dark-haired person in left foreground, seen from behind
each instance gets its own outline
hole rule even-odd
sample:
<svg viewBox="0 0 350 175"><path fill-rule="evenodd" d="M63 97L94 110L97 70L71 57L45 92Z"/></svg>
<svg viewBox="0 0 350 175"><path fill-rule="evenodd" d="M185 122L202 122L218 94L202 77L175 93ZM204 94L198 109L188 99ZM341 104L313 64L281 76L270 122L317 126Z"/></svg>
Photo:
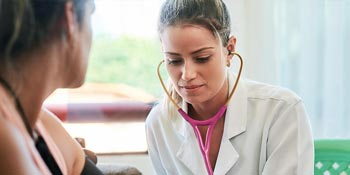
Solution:
<svg viewBox="0 0 350 175"><path fill-rule="evenodd" d="M42 108L84 82L93 0L0 1L1 174L102 174Z"/></svg>

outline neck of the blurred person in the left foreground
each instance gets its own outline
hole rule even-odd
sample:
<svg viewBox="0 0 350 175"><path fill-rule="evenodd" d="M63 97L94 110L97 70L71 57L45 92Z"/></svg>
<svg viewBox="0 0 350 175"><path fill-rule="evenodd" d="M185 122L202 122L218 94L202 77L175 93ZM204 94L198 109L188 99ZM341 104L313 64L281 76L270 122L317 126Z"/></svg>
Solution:
<svg viewBox="0 0 350 175"><path fill-rule="evenodd" d="M23 59L19 58L20 61L13 65L16 71L0 71L1 77L13 89L14 94L11 95L18 99L30 128L34 128L37 122L44 100L58 87L59 80L52 78L58 77L53 75L55 71L52 63L45 62L50 59L54 60L45 53L28 54ZM23 117L21 111L18 112Z"/></svg>

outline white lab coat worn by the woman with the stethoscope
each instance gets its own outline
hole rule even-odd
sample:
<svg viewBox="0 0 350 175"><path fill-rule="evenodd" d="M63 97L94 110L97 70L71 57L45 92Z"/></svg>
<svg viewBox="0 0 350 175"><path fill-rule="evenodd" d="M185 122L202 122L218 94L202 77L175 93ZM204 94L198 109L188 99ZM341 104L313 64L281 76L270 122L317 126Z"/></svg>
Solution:
<svg viewBox="0 0 350 175"><path fill-rule="evenodd" d="M229 76L230 89L234 77ZM187 112L187 105L183 103ZM146 120L159 175L205 175L194 131L155 106ZM241 79L229 102L215 175L313 175L313 138L302 100L287 89Z"/></svg>

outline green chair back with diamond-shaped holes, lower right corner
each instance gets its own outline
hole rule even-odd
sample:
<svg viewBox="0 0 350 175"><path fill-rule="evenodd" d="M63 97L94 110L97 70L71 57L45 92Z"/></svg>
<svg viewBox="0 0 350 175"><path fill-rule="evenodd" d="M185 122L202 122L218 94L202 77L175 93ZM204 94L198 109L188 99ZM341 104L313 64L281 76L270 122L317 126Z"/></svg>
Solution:
<svg viewBox="0 0 350 175"><path fill-rule="evenodd" d="M315 175L350 175L350 140L315 140Z"/></svg>

